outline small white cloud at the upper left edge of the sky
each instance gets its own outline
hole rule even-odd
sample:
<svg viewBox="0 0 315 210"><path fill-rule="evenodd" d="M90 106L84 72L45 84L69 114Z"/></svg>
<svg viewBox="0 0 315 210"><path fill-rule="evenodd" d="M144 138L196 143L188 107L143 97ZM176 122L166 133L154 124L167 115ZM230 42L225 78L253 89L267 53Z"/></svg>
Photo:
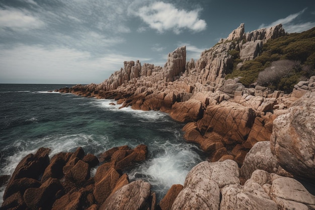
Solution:
<svg viewBox="0 0 315 210"><path fill-rule="evenodd" d="M28 31L45 25L43 21L25 10L7 8L0 10L0 28L10 28L14 31Z"/></svg>

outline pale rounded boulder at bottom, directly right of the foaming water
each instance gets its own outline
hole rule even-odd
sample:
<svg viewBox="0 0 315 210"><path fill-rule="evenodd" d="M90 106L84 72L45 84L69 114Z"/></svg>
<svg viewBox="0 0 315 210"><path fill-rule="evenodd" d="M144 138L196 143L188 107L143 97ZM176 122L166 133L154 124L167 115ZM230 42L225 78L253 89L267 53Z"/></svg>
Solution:
<svg viewBox="0 0 315 210"><path fill-rule="evenodd" d="M186 176L184 188L175 199L174 209L219 209L220 189L240 183L238 164L232 160L199 163Z"/></svg>

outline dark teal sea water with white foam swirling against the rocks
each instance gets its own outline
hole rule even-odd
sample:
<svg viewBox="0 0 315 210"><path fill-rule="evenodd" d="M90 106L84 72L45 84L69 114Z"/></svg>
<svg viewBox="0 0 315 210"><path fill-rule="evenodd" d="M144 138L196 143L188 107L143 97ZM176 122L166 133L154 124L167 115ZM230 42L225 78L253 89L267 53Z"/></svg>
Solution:
<svg viewBox="0 0 315 210"><path fill-rule="evenodd" d="M183 124L168 114L119 109L110 105L113 100L48 92L65 86L0 84L0 176L12 174L24 156L40 147L52 149L52 157L77 147L99 155L113 147L145 144L147 161L127 173L131 180L141 177L151 183L161 199L203 161L201 151L183 139ZM0 206L4 189L0 189Z"/></svg>

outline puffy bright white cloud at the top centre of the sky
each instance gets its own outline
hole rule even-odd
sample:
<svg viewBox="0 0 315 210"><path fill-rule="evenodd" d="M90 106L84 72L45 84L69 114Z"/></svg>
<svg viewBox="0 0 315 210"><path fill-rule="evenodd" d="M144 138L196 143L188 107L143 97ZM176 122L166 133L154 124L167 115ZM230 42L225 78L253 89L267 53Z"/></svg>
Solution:
<svg viewBox="0 0 315 210"><path fill-rule="evenodd" d="M183 29L190 29L194 32L206 29L207 24L204 20L199 19L199 12L200 10L179 10L172 4L155 2L150 6L140 8L135 15L160 33L172 30L179 34Z"/></svg>

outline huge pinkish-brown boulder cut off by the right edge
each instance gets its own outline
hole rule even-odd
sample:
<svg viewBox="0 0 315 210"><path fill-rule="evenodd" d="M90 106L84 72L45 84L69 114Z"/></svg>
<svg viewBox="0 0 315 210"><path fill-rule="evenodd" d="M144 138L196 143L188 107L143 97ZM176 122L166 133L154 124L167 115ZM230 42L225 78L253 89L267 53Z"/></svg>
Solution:
<svg viewBox="0 0 315 210"><path fill-rule="evenodd" d="M315 92L294 102L287 114L274 120L271 152L294 177L315 183Z"/></svg>

